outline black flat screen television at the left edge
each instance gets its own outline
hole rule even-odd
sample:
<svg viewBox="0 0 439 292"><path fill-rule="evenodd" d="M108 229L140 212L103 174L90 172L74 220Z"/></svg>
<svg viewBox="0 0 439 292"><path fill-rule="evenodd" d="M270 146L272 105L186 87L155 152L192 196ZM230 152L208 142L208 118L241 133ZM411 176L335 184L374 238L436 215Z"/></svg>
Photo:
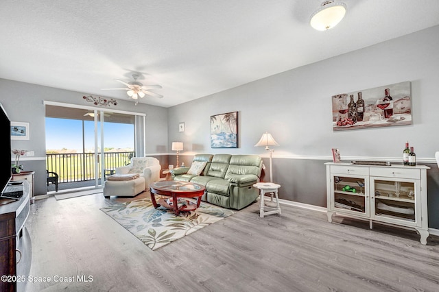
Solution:
<svg viewBox="0 0 439 292"><path fill-rule="evenodd" d="M4 151L1 151L0 159L0 190L5 191L5 187L12 178L11 168L11 121L6 114L3 105L0 103L0 138Z"/></svg>

